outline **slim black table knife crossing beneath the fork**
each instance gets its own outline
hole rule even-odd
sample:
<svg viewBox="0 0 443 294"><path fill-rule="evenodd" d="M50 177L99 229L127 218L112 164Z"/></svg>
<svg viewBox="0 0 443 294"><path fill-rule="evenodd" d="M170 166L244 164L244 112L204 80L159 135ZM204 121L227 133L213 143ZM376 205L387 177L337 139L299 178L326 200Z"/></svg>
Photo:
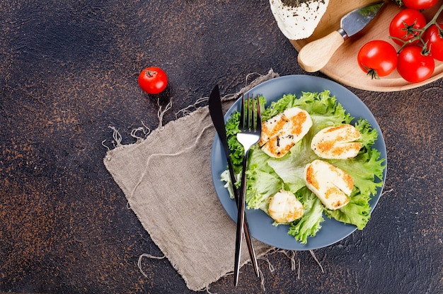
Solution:
<svg viewBox="0 0 443 294"><path fill-rule="evenodd" d="M215 130L219 135L220 142L222 142L224 154L228 162L229 174L231 176L232 190L234 191L234 197L238 206L238 190L234 183L236 182L236 177L234 174L234 166L232 166L231 157L229 156L228 140L226 137L226 129L224 126L224 116L222 110L222 100L220 98L219 86L215 85L212 89L211 95L209 96L209 115L211 115L212 123L214 124ZM253 246L253 241L251 234L249 234L248 220L246 220L246 215L244 218L244 230L243 234L246 239L246 244L248 245L249 255L251 256L251 262L256 276L260 276L258 271L257 257L255 256L255 250Z"/></svg>

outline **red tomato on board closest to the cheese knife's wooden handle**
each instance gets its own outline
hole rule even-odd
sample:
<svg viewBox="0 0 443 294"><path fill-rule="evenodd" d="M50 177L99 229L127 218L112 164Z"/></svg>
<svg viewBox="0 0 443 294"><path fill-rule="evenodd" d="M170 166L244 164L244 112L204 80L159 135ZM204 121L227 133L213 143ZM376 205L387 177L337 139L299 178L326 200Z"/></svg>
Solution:
<svg viewBox="0 0 443 294"><path fill-rule="evenodd" d="M357 62L372 79L385 77L396 69L397 52L393 45L384 40L372 40L360 48Z"/></svg>

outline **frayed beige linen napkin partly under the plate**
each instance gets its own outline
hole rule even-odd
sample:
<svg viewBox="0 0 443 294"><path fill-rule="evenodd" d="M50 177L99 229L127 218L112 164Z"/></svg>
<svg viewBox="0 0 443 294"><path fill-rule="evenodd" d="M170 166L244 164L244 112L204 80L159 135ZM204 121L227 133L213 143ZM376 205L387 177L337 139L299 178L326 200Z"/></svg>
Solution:
<svg viewBox="0 0 443 294"><path fill-rule="evenodd" d="M237 94L278 77L272 69ZM215 129L207 106L159 127L132 145L118 144L103 162L151 239L190 290L233 271L236 225L214 190L210 154ZM254 240L257 256L272 247ZM241 265L249 260L246 246ZM251 269L252 270L252 269Z"/></svg>

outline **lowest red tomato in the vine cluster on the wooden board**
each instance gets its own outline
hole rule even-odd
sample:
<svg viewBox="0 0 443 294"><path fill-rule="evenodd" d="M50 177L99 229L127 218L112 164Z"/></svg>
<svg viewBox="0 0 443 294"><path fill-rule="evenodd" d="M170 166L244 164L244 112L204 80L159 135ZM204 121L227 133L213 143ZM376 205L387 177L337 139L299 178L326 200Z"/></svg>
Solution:
<svg viewBox="0 0 443 294"><path fill-rule="evenodd" d="M422 47L406 46L398 54L398 74L410 83L425 81L432 76L434 69L434 58L431 55L423 55Z"/></svg>

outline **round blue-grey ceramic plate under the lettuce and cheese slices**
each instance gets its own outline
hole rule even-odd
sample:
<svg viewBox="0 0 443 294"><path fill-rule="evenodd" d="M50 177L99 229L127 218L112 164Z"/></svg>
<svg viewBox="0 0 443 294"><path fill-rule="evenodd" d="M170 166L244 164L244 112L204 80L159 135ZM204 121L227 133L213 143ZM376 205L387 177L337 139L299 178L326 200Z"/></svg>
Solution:
<svg viewBox="0 0 443 294"><path fill-rule="evenodd" d="M364 105L357 96L340 84L320 77L291 75L265 81L263 84L255 86L248 91L248 93L263 95L265 96L267 103L271 103L272 101L277 101L282 98L283 94L295 94L299 97L301 96L302 91L321 92L324 90L329 90L330 94L335 96L338 102L340 102L346 111L353 117L356 119L365 118L371 123L372 128L376 128L379 132L379 137L373 147L381 152L381 158L384 158L384 164L387 164L384 138L374 115L372 115L371 111L369 111L367 106ZM231 113L234 111L240 111L240 101L241 100L236 101L233 106L229 108L229 111L227 111L224 116L225 122L229 119ZM232 220L236 221L236 203L229 198L229 193L223 186L224 182L220 179L220 174L226 169L226 166L227 163L226 158L224 157L223 146L218 135L216 135L211 153L212 181L214 182L215 191L217 191L217 195L219 196L220 202L226 210L226 213L228 213ZM383 173L383 181L385 181L385 179L386 166ZM382 190L383 187L378 188L376 195L369 201L372 210L374 210ZM255 239L272 247L288 250L310 250L326 247L340 241L356 230L354 225L347 225L343 222L338 222L325 217L325 221L322 222L321 225L321 230L317 232L316 236L308 238L307 244L301 244L287 233L287 225L273 226L272 218L266 215L262 210L246 210L246 215L248 217L249 230Z"/></svg>

